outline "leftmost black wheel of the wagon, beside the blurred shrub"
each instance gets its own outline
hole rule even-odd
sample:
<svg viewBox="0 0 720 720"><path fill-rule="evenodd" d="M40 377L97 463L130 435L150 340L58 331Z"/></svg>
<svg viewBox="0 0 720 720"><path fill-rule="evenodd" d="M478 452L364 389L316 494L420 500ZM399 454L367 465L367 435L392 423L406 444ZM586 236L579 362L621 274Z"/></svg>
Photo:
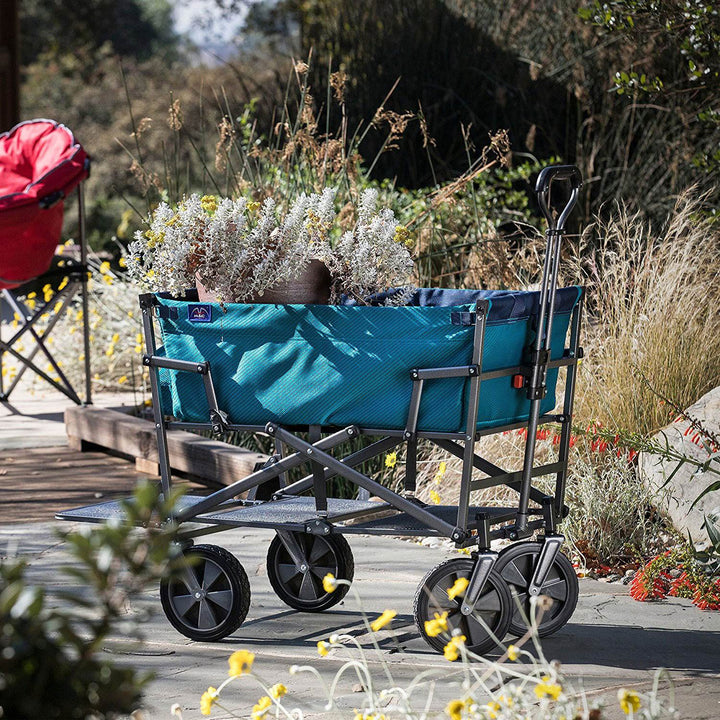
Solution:
<svg viewBox="0 0 720 720"><path fill-rule="evenodd" d="M235 632L250 608L243 566L225 548L195 545L180 577L160 583L160 602L170 624L191 640L213 642Z"/></svg>

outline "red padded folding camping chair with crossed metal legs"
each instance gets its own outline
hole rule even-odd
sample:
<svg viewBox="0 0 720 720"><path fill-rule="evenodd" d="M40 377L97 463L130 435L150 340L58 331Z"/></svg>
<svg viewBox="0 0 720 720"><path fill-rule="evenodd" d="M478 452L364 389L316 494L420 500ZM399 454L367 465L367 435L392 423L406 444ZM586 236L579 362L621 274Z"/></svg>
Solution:
<svg viewBox="0 0 720 720"><path fill-rule="evenodd" d="M9 398L29 369L73 402L82 404L47 347L50 332L79 294L85 402L90 402L87 246L81 184L89 170L90 158L85 150L68 128L52 120L29 120L0 134L0 321L12 321L6 323L10 337L0 336L0 371L6 353L20 363L19 372L7 387L5 373L0 372L0 401ZM76 188L80 260L53 262L62 233L64 200ZM3 304L10 309L9 315L3 314ZM24 354L21 338L30 341L30 350ZM38 353L45 356L48 371L54 371L56 377L37 365Z"/></svg>

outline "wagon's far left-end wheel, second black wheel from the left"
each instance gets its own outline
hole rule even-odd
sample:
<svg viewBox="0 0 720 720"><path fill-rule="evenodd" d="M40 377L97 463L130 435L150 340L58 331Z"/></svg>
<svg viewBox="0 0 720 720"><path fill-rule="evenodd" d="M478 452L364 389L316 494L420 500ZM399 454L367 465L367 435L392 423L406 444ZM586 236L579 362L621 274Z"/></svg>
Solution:
<svg viewBox="0 0 720 720"><path fill-rule="evenodd" d="M296 564L285 542L292 545L300 560ZM311 535L283 531L275 535L267 556L270 584L277 596L291 608L303 612L321 612L337 605L350 589L340 585L329 593L323 578L332 573L338 580L350 580L355 574L352 550L342 535Z"/></svg>

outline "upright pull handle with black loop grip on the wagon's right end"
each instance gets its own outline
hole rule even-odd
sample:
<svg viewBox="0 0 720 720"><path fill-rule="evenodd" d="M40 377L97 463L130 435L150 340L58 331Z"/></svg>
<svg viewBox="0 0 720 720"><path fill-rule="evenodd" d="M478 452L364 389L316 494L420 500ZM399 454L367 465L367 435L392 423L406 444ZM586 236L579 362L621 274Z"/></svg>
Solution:
<svg viewBox="0 0 720 720"><path fill-rule="evenodd" d="M551 189L553 182L569 182L570 196L562 208L552 205ZM524 532L527 527L527 512L530 502L530 483L535 461L535 438L537 435L538 419L540 417L540 404L545 397L547 364L550 360L553 315L555 311L555 293L557 291L558 266L560 264L560 244L572 209L575 207L577 197L582 187L582 175L574 165L551 165L542 170L535 184L540 209L548 223L545 233L547 246L545 262L543 263L543 276L540 286L540 301L538 306L537 336L533 346L530 362L532 374L528 384L527 396L531 401L530 417L528 421L528 434L525 443L525 458L523 462L523 477L520 487L518 503L518 517L516 530Z"/></svg>

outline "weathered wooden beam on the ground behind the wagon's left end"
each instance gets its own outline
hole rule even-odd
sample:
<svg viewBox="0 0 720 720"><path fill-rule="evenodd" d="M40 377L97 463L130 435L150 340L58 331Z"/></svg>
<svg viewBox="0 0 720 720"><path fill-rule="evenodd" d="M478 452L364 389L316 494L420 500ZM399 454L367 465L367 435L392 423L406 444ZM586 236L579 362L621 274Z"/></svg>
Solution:
<svg viewBox="0 0 720 720"><path fill-rule="evenodd" d="M68 437L79 438L83 445L91 443L137 458L143 467L151 467L143 461L157 466L157 438L152 422L117 410L87 406L67 408L65 427ZM267 460L266 455L182 430L170 430L167 437L171 468L212 484L229 485Z"/></svg>

